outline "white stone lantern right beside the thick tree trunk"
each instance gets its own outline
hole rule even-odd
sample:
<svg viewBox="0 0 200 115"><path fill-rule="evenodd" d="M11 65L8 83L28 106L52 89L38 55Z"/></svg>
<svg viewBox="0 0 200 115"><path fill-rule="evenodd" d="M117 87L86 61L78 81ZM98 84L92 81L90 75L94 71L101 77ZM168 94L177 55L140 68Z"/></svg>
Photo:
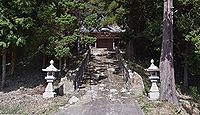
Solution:
<svg viewBox="0 0 200 115"><path fill-rule="evenodd" d="M158 100L159 99L159 90L157 86L157 81L159 80L158 72L160 71L157 66L154 65L154 60L151 59L151 65L148 69L146 69L147 72L150 73L149 79L151 81L151 89L149 92L150 100Z"/></svg>

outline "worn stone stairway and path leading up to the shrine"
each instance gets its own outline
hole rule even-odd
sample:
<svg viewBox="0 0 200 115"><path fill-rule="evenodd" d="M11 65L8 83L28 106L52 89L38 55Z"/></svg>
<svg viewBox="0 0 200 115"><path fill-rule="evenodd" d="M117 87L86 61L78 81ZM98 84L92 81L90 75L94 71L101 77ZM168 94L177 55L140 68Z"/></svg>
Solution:
<svg viewBox="0 0 200 115"><path fill-rule="evenodd" d="M85 93L75 104L62 108L56 115L142 115L132 95L125 88L114 51L92 49L85 79Z"/></svg>

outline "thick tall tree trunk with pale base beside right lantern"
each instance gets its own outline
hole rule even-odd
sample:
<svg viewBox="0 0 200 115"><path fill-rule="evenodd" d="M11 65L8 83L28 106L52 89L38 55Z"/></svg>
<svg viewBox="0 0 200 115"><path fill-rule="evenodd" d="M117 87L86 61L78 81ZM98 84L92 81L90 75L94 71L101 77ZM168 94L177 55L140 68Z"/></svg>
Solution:
<svg viewBox="0 0 200 115"><path fill-rule="evenodd" d="M160 57L160 99L178 105L173 60L173 0L164 0L163 41Z"/></svg>

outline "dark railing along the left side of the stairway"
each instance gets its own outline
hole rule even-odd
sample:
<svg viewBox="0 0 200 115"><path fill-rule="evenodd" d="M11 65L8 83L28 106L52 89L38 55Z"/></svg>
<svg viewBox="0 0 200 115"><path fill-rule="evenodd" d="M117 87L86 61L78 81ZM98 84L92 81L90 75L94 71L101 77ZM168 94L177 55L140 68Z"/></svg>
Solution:
<svg viewBox="0 0 200 115"><path fill-rule="evenodd" d="M90 60L91 49L89 48L87 52L84 54L84 58L81 61L79 67L76 69L76 75L74 78L74 90L77 90L81 85L81 81L83 80L83 76L87 67L87 64Z"/></svg>

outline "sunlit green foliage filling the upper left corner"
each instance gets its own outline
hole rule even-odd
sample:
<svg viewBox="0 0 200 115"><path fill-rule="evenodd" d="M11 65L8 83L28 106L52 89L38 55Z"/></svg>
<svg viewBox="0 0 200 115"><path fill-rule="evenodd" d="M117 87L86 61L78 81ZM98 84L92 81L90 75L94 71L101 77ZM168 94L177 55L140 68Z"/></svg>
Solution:
<svg viewBox="0 0 200 115"><path fill-rule="evenodd" d="M25 31L34 25L33 19L28 15L33 12L34 3L34 0L13 0L0 3L1 48L25 45L28 38Z"/></svg>

